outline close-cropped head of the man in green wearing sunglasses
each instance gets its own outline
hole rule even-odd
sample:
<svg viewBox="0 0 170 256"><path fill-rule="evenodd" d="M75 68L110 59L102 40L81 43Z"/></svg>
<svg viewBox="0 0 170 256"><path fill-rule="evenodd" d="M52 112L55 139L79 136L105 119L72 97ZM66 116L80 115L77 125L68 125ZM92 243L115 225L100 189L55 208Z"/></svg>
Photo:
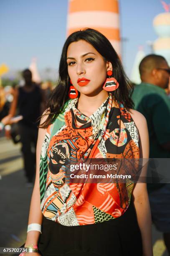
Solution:
<svg viewBox="0 0 170 256"><path fill-rule="evenodd" d="M167 61L163 56L156 54L147 55L140 62L140 78L142 82L166 88L169 81L169 74L163 69L168 68Z"/></svg>

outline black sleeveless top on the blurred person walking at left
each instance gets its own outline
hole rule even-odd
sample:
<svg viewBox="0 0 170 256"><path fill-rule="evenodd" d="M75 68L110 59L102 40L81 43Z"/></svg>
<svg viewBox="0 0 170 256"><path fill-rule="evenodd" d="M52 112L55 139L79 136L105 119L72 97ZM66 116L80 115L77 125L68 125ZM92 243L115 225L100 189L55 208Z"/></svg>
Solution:
<svg viewBox="0 0 170 256"><path fill-rule="evenodd" d="M19 115L23 115L20 123L31 127L37 127L37 118L40 117L40 106L42 102L41 89L35 84L33 91L26 92L22 87L19 88L18 109Z"/></svg>

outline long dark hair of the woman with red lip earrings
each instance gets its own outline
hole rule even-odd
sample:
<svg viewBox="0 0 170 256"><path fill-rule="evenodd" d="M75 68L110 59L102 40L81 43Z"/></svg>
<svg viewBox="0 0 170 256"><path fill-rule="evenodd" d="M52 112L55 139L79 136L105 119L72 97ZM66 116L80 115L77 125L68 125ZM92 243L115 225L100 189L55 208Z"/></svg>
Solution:
<svg viewBox="0 0 170 256"><path fill-rule="evenodd" d="M112 63L113 76L119 82L119 88L113 93L114 100L122 102L125 108L133 108L133 101L131 94L133 86L127 78L122 63L114 50L109 40L101 34L91 28L84 29L82 31L76 31L72 33L63 46L61 53L60 65L59 65L59 80L58 85L53 90L53 93L48 102L48 118L41 124L41 128L46 128L50 125L56 116L63 111L63 106L67 100L69 100L69 74L67 70L67 49L73 42L84 40L91 44L96 51L103 56L103 58Z"/></svg>

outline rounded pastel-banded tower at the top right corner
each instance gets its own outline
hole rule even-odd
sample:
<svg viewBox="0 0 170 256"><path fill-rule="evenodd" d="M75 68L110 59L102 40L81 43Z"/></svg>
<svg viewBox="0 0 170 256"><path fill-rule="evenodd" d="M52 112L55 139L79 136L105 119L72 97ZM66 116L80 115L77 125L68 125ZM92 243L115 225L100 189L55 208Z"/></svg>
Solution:
<svg viewBox="0 0 170 256"><path fill-rule="evenodd" d="M161 1L165 13L158 14L153 20L159 38L153 44L155 54L162 55L170 65L170 4Z"/></svg>

